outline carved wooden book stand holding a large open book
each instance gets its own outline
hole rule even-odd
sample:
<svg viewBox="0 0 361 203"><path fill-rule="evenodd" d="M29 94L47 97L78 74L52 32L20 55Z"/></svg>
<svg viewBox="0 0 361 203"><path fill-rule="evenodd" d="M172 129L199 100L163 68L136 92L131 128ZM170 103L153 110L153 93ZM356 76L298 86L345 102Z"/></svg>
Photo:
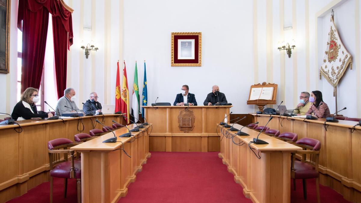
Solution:
<svg viewBox="0 0 361 203"><path fill-rule="evenodd" d="M276 104L277 87L277 84L266 82L251 85L247 104L257 105L258 109L263 112L265 105Z"/></svg>

